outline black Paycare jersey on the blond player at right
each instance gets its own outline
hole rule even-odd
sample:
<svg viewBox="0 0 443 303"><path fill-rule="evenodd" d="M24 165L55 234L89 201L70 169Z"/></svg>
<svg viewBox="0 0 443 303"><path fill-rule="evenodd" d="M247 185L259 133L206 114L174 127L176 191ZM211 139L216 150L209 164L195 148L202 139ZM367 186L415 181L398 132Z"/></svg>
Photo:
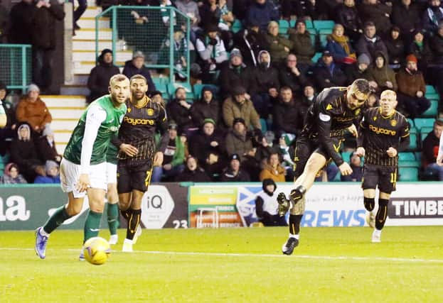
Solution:
<svg viewBox="0 0 443 303"><path fill-rule="evenodd" d="M359 132L365 148L365 163L383 166L396 166L398 156L389 157L386 150L391 146L399 151L400 143L409 145L409 123L405 116L394 111L389 116L381 114L380 107L365 111Z"/></svg>

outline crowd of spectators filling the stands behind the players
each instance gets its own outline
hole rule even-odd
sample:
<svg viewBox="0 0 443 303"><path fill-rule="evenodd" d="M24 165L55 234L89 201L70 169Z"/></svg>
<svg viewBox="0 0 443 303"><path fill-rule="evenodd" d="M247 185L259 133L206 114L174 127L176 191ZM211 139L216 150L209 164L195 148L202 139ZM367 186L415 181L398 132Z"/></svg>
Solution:
<svg viewBox="0 0 443 303"><path fill-rule="evenodd" d="M144 66L146 53L140 50L124 65L124 75L142 74L149 80L149 96L166 107L169 117L169 145L163 165L154 167L152 182L292 180L294 142L310 104L327 87L368 79L373 91L368 107L378 104L384 89L393 89L397 110L410 119L420 118L432 106L427 86L435 87L437 96L443 94L440 0L102 0L99 4L175 6L191 18L191 41L186 47L194 59L185 82L194 90L203 87L197 98L190 96L184 83L183 87L177 83L170 99L164 98ZM329 27L316 28L316 21ZM176 42L183 37L174 34ZM112 55L112 50L102 50L92 69L88 101L107 94L110 77L119 72ZM49 143L46 148L54 146L50 131L44 132L50 114L26 119L21 115L22 108L33 104L34 92L29 90L21 101L27 103L18 104L13 115L16 122L9 131L18 133L10 150L16 165L6 165L7 172L5 168L5 175L15 169L28 182L36 175L48 175L48 166L53 168L48 161L57 162L27 150L29 155L20 155L27 157L23 163L12 152L14 146L37 146L32 140L42 137ZM37 104L33 107L41 110ZM424 178L443 180L442 168L434 165L442 129L443 122L437 119L427 136L419 138ZM345 160L353 166L353 175L343 181L361 181L362 161L353 148L351 143L344 150L351 153ZM23 153L23 148L18 149ZM329 165L318 180L336 179L337 173L335 165Z"/></svg>

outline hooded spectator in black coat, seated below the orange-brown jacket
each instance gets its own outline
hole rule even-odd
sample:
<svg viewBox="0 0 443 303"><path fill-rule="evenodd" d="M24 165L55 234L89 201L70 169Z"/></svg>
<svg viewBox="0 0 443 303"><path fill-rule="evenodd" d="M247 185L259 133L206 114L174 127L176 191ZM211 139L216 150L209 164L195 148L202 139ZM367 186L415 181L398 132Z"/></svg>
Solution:
<svg viewBox="0 0 443 303"><path fill-rule="evenodd" d="M12 141L9 152L11 153L11 162L18 165L18 169L28 182L33 182L36 175L46 175L45 167L38 159L36 148L34 148L28 124L18 126L17 136Z"/></svg>

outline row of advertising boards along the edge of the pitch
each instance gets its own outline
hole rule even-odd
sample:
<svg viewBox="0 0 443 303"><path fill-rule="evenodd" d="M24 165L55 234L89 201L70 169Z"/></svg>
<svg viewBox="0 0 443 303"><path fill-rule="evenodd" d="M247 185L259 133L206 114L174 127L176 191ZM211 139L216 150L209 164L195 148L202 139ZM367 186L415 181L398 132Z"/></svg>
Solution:
<svg viewBox="0 0 443 303"><path fill-rule="evenodd" d="M413 186L412 186L413 185ZM292 183L277 185L289 194ZM439 182L401 182L388 206L386 226L443 225L443 197ZM144 228L240 227L257 221L255 197L261 183L162 183L149 187L142 201ZM43 224L66 201L58 185L0 186L0 230L29 230ZM82 211L63 224L81 229ZM366 226L359 183L316 183L306 196L301 226ZM122 224L124 220L121 221ZM125 227L122 225L121 227ZM106 217L102 229L107 228Z"/></svg>

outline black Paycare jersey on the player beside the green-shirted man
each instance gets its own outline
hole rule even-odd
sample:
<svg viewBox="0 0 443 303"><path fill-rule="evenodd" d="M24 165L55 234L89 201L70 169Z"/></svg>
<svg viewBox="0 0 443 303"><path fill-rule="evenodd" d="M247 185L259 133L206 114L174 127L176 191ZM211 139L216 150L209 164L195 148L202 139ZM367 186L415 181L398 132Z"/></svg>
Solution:
<svg viewBox="0 0 443 303"><path fill-rule="evenodd" d="M144 160L151 157L147 151L151 149L151 145L155 144L154 136L157 129L162 134L167 133L167 117L163 106L156 104L148 97L145 97L144 104L139 107L130 101L127 102L127 112L124 115L116 143L117 145L122 143L131 144L138 148L139 153L133 158L125 153L119 153L118 158L122 160ZM164 152L167 141L169 141L169 138L166 139L166 143L162 140L158 150Z"/></svg>

